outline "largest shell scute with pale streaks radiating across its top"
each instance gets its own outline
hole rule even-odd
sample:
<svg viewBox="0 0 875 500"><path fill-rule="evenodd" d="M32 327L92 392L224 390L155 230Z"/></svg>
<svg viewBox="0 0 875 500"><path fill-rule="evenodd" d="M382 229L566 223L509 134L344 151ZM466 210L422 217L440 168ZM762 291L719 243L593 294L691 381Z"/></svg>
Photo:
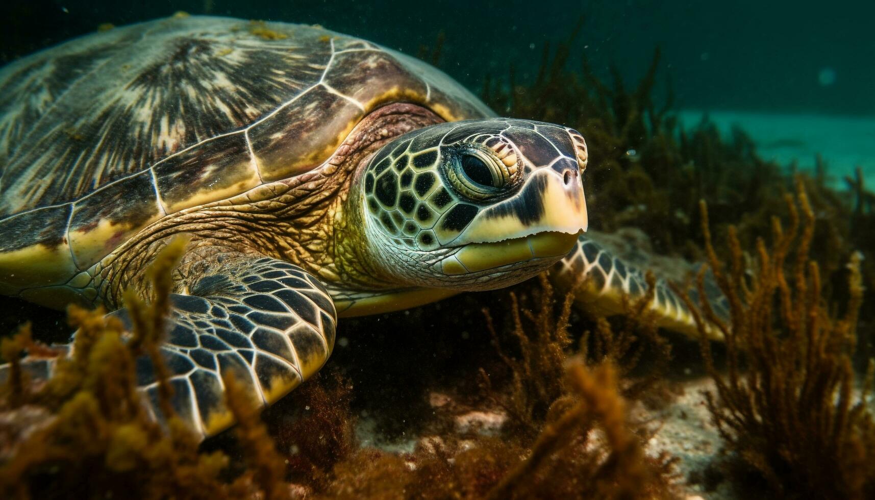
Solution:
<svg viewBox="0 0 875 500"><path fill-rule="evenodd" d="M90 53L102 61L79 78L76 67L58 60L55 50L31 56L34 64L52 68L52 79L74 81L36 122L10 115L0 125L30 128L11 146L4 172L4 188L16 191L18 198L4 198L0 213L15 210L13 202L34 207L78 199L192 144L247 125L317 81L321 71L310 63L325 65L330 58L330 47L314 42L307 32L296 36L294 45L277 46L233 31L238 24L172 19L73 40L55 50L79 53L84 46L82 60ZM227 48L232 52L220 56ZM26 185L57 172L65 175L54 176L42 189Z"/></svg>

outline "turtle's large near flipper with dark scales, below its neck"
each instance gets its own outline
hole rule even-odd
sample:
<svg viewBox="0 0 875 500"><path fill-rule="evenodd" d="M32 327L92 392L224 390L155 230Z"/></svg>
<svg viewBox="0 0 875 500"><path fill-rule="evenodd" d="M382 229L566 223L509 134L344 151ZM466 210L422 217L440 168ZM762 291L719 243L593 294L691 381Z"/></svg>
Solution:
<svg viewBox="0 0 875 500"><path fill-rule="evenodd" d="M337 314L316 278L293 264L237 252L209 253L172 293L161 352L170 371L172 407L205 436L233 423L222 374L231 371L261 405L283 397L331 354ZM126 309L111 313L129 324ZM137 384L163 419L158 380L147 357Z"/></svg>

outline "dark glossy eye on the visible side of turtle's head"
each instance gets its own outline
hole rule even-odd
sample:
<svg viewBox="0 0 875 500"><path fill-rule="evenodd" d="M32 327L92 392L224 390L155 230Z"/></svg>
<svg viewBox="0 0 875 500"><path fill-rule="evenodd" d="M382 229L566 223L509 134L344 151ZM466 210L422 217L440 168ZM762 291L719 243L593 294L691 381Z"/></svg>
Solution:
<svg viewBox="0 0 875 500"><path fill-rule="evenodd" d="M446 173L459 194L474 200L486 200L503 193L511 177L504 164L479 149L458 151Z"/></svg>

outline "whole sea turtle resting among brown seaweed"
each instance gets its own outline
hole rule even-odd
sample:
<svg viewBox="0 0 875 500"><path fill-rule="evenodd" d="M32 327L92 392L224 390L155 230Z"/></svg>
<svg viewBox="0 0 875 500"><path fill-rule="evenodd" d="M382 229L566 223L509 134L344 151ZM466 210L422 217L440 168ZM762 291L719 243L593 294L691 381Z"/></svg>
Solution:
<svg viewBox="0 0 875 500"><path fill-rule="evenodd" d="M151 260L191 235L162 351L174 409L206 436L231 423L221 372L268 405L325 363L338 317L564 256L566 276L594 277L585 300L641 293L583 236L586 162L577 131L496 117L436 68L318 26L116 28L0 70L0 292L126 319L123 291L147 296ZM662 285L654 306L689 325Z"/></svg>

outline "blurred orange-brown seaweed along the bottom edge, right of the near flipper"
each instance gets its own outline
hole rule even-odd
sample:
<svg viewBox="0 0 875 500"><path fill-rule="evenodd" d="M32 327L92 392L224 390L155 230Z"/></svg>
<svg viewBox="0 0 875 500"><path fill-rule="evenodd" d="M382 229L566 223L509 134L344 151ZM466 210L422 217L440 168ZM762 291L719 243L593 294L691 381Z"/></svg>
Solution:
<svg viewBox="0 0 875 500"><path fill-rule="evenodd" d="M574 404L544 427L531 451L479 437L407 455L362 449L332 472L326 498L670 498L674 461L648 457L610 363L571 363Z"/></svg>

